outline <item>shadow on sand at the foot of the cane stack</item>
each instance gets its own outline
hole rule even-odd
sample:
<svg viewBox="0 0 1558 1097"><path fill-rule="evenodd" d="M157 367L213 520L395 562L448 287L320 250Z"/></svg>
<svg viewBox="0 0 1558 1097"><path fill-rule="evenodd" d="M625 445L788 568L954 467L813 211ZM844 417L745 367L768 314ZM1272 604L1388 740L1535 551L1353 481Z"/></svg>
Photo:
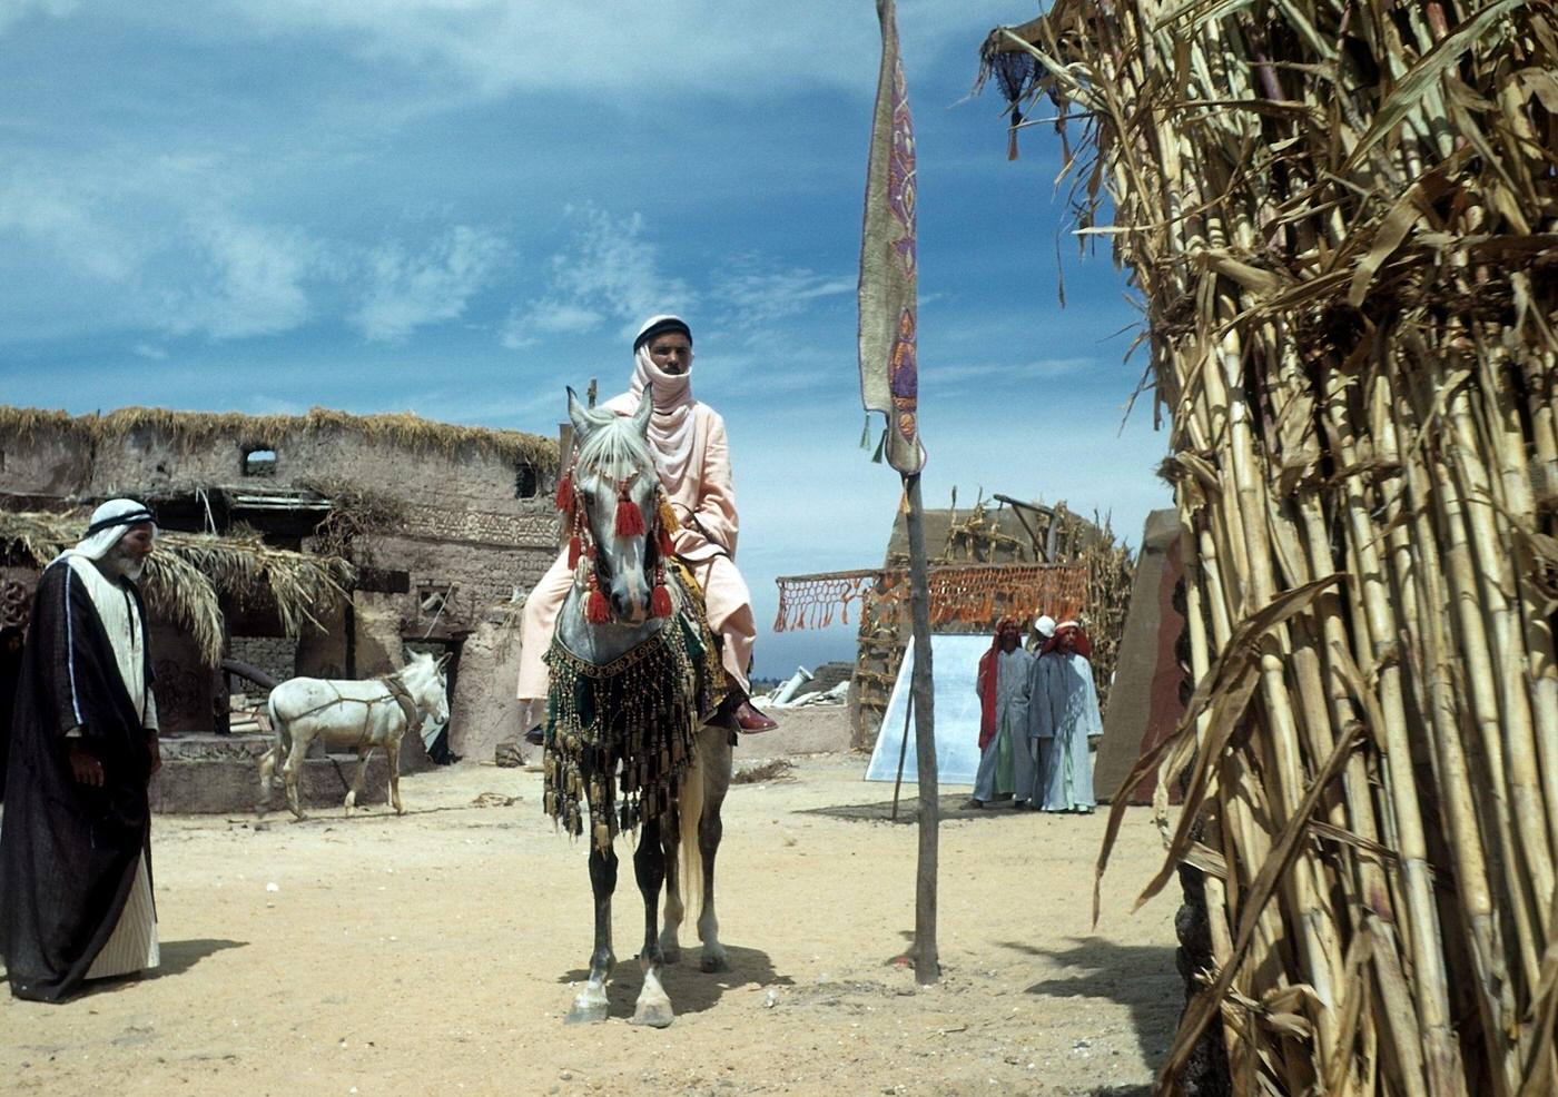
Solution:
<svg viewBox="0 0 1558 1097"><path fill-rule="evenodd" d="M1044 957L1072 969L1027 988L1041 997L1102 997L1131 1011L1131 1028L1142 1058L1153 1069L1162 1063L1184 1008L1184 983L1175 966L1175 949L1167 944L1116 944L1100 937L1072 938L1069 949L1041 949L1020 941L1002 947L1030 957ZM1098 1091L1134 1094L1136 1089ZM1140 1089L1140 1092L1148 1092Z"/></svg>

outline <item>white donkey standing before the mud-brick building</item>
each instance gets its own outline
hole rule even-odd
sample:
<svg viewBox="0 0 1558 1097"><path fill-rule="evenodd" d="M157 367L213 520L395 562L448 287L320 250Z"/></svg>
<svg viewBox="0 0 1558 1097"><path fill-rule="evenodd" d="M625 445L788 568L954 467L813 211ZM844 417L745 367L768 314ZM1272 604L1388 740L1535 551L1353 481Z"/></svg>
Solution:
<svg viewBox="0 0 1558 1097"><path fill-rule="evenodd" d="M276 767L287 781L287 804L293 815L305 818L298 802L298 776L315 739L326 748L357 751L357 774L346 793L346 813L352 813L368 776L368 756L383 746L390 762L390 802L397 815L400 806L400 739L418 731L424 720L449 720L449 695L444 690L444 662L413 653L411 661L393 675L380 678L329 681L324 678L288 678L271 690L266 709L276 743L260 756L260 810L271 799Z"/></svg>

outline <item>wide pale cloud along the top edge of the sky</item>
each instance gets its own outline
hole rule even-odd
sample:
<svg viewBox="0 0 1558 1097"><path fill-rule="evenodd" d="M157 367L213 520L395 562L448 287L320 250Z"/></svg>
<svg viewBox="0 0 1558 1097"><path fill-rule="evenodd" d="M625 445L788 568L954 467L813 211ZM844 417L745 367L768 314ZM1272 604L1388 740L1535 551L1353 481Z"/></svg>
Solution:
<svg viewBox="0 0 1558 1097"><path fill-rule="evenodd" d="M190 17L182 0L156 6L164 20ZM1010 3L986 6L988 16L941 0L901 5L905 48L955 37L972 56L989 26L1011 17ZM810 3L795 17L754 0L226 0L209 8L218 33L329 34L365 61L439 72L483 95L714 92L751 100L816 87L868 93L877 73L869 5Z"/></svg>

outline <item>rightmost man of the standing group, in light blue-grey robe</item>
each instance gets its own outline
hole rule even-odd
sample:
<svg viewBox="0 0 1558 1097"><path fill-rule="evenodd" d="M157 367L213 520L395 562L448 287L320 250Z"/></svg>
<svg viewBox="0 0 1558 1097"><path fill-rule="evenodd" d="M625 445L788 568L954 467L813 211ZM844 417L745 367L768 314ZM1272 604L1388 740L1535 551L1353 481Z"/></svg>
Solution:
<svg viewBox="0 0 1558 1097"><path fill-rule="evenodd" d="M1055 626L1028 679L1028 731L1039 743L1039 778L1033 793L1042 812L1091 812L1092 754L1087 740L1103 734L1091 651L1077 622Z"/></svg>

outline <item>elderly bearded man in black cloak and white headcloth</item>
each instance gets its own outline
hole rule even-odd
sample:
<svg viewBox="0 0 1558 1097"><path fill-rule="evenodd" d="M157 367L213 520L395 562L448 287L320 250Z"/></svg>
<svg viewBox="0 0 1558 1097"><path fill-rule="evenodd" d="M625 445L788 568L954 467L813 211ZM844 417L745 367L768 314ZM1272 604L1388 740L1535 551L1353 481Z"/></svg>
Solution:
<svg viewBox="0 0 1558 1097"><path fill-rule="evenodd" d="M159 961L146 784L162 756L136 586L154 538L145 506L103 503L37 584L0 820L0 957L20 999Z"/></svg>

